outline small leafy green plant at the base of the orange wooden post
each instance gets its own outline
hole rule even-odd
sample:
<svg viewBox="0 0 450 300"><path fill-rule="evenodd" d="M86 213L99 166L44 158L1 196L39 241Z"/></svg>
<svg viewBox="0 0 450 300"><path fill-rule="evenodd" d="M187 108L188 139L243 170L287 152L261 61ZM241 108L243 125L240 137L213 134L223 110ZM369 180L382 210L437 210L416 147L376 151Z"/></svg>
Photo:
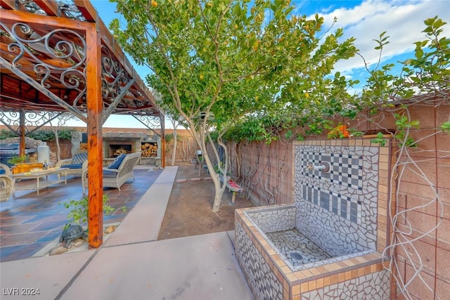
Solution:
<svg viewBox="0 0 450 300"><path fill-rule="evenodd" d="M70 209L68 214L69 223L65 224L64 229L68 228L71 223L82 225L87 222L88 218L88 197L83 197L80 200L69 200L69 202L61 203L66 209ZM127 207L122 207L122 211L127 211ZM103 195L103 211L105 214L110 214L115 211L113 207L108 204L108 195Z"/></svg>

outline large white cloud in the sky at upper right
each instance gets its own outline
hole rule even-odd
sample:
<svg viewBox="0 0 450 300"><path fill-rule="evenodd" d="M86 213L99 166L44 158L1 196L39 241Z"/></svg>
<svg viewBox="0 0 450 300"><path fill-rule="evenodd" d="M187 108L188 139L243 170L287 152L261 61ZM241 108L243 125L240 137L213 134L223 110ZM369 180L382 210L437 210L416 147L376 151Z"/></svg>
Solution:
<svg viewBox="0 0 450 300"><path fill-rule="evenodd" d="M338 4L336 1L334 4ZM436 15L450 22L449 1L447 0L403 0L385 1L368 0L353 8L337 8L326 13L319 13L324 18L323 28L328 28L333 19L338 18L334 28L344 28L345 38L354 37L355 46L367 63L378 61L379 51L373 39L378 39L382 32L387 32L390 44L383 49L382 61L403 53L413 51L416 41L427 39L422 32L425 29L424 20ZM444 34L448 37L450 25L447 24ZM356 57L336 65L342 73L363 67L361 58Z"/></svg>

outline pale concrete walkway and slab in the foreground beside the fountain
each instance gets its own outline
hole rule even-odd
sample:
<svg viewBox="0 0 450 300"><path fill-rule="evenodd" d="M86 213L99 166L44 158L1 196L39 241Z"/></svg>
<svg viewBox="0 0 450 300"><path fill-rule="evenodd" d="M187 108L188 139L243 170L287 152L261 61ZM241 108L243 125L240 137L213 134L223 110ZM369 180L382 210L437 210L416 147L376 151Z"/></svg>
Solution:
<svg viewBox="0 0 450 300"><path fill-rule="evenodd" d="M1 299L253 299L233 231L156 240L176 170L162 171L99 249L0 263Z"/></svg>

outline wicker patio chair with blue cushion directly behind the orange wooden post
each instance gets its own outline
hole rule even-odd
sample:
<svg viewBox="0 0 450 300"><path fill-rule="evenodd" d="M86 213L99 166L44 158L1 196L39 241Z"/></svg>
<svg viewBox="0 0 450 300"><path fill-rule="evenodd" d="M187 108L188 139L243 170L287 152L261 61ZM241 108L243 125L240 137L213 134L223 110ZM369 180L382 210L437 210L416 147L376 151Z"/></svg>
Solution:
<svg viewBox="0 0 450 300"><path fill-rule="evenodd" d="M141 159L141 152L135 152L130 154L121 154L116 157L108 167L103 168L103 188L118 188L129 179L134 180L133 169L134 166ZM83 195L86 195L87 188L87 164L83 164L82 184Z"/></svg>

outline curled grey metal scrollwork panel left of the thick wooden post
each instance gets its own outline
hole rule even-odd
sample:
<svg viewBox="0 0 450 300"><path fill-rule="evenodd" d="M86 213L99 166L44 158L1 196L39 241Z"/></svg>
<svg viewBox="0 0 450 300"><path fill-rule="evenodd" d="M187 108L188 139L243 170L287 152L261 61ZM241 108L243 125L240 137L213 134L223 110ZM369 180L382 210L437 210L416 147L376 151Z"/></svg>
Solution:
<svg viewBox="0 0 450 300"><path fill-rule="evenodd" d="M74 30L37 32L25 22L0 22L4 58L12 67L39 82L44 89L62 86L72 91L72 107L84 112L86 96L86 39Z"/></svg>

